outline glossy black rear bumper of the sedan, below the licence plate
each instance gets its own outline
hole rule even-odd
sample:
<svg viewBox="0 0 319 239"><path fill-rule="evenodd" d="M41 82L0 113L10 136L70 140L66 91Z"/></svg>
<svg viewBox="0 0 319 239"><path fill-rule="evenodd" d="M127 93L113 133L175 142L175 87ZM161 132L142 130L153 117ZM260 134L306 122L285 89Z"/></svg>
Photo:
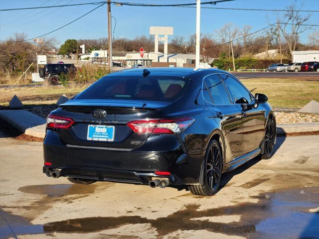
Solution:
<svg viewBox="0 0 319 239"><path fill-rule="evenodd" d="M166 151L155 151L157 143L148 141L140 150L130 151L83 147L64 144L57 133L51 132L43 142L43 172L57 169L61 170L59 176L98 181L148 184L152 177L164 177L171 184L198 184L202 155L185 153L177 138L175 144L166 145ZM158 171L171 175L158 175Z"/></svg>

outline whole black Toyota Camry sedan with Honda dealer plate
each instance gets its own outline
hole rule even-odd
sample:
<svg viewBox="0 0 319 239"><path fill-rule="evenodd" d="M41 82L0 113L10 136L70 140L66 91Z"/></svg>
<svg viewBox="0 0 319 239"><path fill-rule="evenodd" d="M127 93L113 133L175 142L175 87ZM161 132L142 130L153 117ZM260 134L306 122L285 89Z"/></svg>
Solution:
<svg viewBox="0 0 319 239"><path fill-rule="evenodd" d="M114 72L47 117L43 172L80 184L183 184L210 196L223 172L272 156L267 100L216 69Z"/></svg>

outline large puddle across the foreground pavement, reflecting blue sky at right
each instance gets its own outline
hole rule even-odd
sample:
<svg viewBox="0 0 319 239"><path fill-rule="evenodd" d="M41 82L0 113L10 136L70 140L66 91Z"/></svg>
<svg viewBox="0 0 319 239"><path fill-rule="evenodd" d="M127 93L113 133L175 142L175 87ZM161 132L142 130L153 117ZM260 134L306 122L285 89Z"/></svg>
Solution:
<svg viewBox="0 0 319 239"><path fill-rule="evenodd" d="M159 238L177 230L207 230L251 239L319 237L319 212L309 211L319 207L319 187L262 193L254 198L259 199L259 202L207 210L198 210L200 205L190 204L182 210L158 219L140 216L79 218L45 225L23 225L18 232L20 235L53 232L89 233L115 229L127 224L150 224L157 231ZM232 215L240 215L240 221L219 223L200 220L202 217ZM0 228L0 235L1 230Z"/></svg>

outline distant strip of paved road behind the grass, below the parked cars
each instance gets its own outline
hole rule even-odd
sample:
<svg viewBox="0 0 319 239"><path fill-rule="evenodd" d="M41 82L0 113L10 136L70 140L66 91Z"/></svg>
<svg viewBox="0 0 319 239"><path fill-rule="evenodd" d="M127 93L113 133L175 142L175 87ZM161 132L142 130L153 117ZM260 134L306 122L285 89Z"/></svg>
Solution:
<svg viewBox="0 0 319 239"><path fill-rule="evenodd" d="M232 72L236 77L297 78L301 80L318 80L319 72Z"/></svg>

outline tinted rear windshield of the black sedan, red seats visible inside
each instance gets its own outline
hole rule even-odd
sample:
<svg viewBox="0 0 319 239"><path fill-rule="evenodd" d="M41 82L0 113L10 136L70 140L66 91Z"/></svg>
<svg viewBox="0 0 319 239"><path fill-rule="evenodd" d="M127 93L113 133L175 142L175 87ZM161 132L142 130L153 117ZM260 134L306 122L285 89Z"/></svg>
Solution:
<svg viewBox="0 0 319 239"><path fill-rule="evenodd" d="M163 76L104 77L74 99L174 101L190 84L189 79Z"/></svg>

